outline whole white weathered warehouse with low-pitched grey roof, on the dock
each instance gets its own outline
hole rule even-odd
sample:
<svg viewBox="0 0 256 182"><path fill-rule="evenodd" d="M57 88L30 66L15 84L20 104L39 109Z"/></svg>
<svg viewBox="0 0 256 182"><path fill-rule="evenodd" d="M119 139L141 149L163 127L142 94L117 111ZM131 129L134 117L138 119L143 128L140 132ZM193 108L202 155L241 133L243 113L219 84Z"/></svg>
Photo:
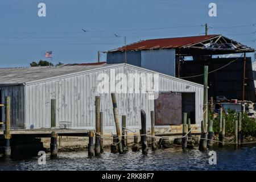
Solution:
<svg viewBox="0 0 256 182"><path fill-rule="evenodd" d="M98 85L102 82L102 80L99 80L100 73L105 73L111 80L111 72L113 73L113 71L115 76L118 73L125 73L126 75L129 73L159 74L160 93L172 93L171 97L176 93L177 96L179 96L178 93L192 93L193 98L191 96L182 97L184 106L178 112L179 121L175 123L181 122L181 111L187 110L188 112L192 111L192 113L194 111L197 124L203 120L203 85L123 63L90 66L62 65L57 67L0 69L1 102L5 102L6 96L11 97L11 127L13 129L51 127L51 99L56 99L56 127L59 127L59 122L67 121L72 123L72 129L94 129L94 99L95 96L101 96L104 130L114 130L110 92L98 92ZM111 86L113 85L110 83L109 88ZM127 89L130 86L127 84ZM144 89L143 86L139 86L139 90L142 89ZM147 127L150 127L150 111L155 110L156 100L149 100L148 94L148 92L117 93L120 119L121 115L126 115L127 128L140 129L141 109L146 111ZM171 97L170 101L172 101ZM174 104L176 105L176 103ZM168 104L166 107L168 107ZM161 108L164 110L164 104ZM166 109L168 111L168 108ZM5 112L3 109L1 117L4 120ZM166 119L166 115L163 118ZM166 123L168 124L167 121L162 123L165 123L162 127L168 127L166 125Z"/></svg>

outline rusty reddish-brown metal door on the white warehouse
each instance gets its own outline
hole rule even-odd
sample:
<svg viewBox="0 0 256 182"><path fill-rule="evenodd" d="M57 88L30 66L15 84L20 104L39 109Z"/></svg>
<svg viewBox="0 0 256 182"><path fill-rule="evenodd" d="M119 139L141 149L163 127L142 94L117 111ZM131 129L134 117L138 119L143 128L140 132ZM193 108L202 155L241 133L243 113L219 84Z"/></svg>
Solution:
<svg viewBox="0 0 256 182"><path fill-rule="evenodd" d="M181 125L180 92L162 92L155 100L155 125Z"/></svg>

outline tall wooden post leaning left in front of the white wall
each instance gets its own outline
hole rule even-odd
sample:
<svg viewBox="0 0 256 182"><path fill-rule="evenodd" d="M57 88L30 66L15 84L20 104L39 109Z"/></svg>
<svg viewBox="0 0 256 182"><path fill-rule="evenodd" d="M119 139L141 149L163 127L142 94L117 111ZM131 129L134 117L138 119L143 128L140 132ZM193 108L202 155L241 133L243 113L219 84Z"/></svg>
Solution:
<svg viewBox="0 0 256 182"><path fill-rule="evenodd" d="M117 130L117 136L118 136L118 149L119 154L123 153L123 147L122 147L122 135L120 132L120 126L119 126L119 113L117 109L117 99L115 98L115 93L111 94L112 97L112 103L113 103L113 113L114 113L114 121L115 121L115 129Z"/></svg>

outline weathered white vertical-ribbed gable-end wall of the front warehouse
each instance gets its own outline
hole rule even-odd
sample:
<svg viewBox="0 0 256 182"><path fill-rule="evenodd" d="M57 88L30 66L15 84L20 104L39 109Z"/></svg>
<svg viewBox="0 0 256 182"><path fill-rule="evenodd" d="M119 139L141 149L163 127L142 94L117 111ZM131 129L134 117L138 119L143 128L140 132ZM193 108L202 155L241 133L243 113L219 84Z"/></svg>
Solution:
<svg viewBox="0 0 256 182"><path fill-rule="evenodd" d="M141 68L121 65L114 68L118 73L144 73ZM150 72L146 71L145 72ZM110 68L93 71L75 76L36 82L26 85L26 128L50 127L51 99L56 98L56 125L59 121L72 122L73 128L94 129L95 126L95 96L101 96L101 111L104 112L104 129L114 129L113 106L109 93L98 94L97 77L106 73L110 77ZM111 85L109 85L110 88ZM129 87L130 85L127 85ZM141 89L141 87L140 87ZM196 121L200 123L203 110L203 87L177 78L160 76L159 89L164 92L195 92ZM154 100L148 100L148 93L117 94L119 115L127 115L127 126L139 129L141 123L140 110L147 114L147 125L150 127L150 111L154 110ZM121 121L121 120L120 120Z"/></svg>

